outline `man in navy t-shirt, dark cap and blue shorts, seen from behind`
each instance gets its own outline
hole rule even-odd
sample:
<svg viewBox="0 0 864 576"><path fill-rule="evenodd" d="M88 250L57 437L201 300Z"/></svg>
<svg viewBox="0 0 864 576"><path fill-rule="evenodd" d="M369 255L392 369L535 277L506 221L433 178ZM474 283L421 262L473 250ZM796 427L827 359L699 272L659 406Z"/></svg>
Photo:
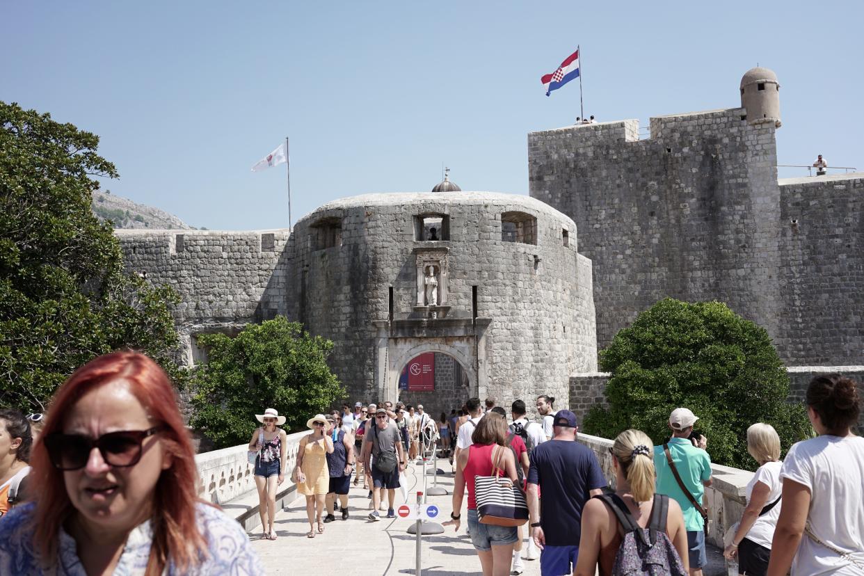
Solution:
<svg viewBox="0 0 864 576"><path fill-rule="evenodd" d="M594 452L575 441L578 430L576 415L559 410L552 422L552 440L530 454L528 510L532 538L542 550L543 576L573 573L579 555L582 506L607 485Z"/></svg>

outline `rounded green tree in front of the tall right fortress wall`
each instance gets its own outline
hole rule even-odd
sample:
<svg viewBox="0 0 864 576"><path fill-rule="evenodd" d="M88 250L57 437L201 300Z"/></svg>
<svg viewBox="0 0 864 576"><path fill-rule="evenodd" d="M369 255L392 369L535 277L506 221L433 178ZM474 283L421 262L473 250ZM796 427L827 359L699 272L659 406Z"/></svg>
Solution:
<svg viewBox="0 0 864 576"><path fill-rule="evenodd" d="M811 433L804 407L786 402L789 376L768 332L721 302L659 301L615 335L600 366L611 372L609 407L589 411L588 434L637 428L661 444L670 412L683 406L699 416L713 462L752 470L751 424L776 428L784 453Z"/></svg>

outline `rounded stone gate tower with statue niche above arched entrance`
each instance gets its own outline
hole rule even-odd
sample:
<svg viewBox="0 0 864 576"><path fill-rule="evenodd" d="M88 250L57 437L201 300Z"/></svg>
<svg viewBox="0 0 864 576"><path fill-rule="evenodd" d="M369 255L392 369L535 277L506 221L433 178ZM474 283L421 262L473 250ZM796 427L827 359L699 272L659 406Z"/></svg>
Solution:
<svg viewBox="0 0 864 576"><path fill-rule="evenodd" d="M334 342L327 362L352 399L410 398L434 415L470 396L510 408L548 394L563 407L570 375L597 370L591 262L573 220L537 199L367 194L321 206L292 237L297 317ZM431 352L465 381L400 389Z"/></svg>

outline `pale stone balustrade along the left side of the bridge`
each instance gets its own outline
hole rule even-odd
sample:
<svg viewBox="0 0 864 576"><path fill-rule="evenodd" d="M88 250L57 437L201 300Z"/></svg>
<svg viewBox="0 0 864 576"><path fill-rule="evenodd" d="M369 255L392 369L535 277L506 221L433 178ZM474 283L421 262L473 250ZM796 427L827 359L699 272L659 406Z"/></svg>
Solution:
<svg viewBox="0 0 864 576"><path fill-rule="evenodd" d="M306 434L308 432L288 435L287 473L285 481L279 487L280 492L294 487L290 476L297 461L300 439ZM254 466L246 459L248 450L249 446L243 444L195 456L199 477L198 495L210 502L224 504L249 493L255 493L255 478L252 475Z"/></svg>

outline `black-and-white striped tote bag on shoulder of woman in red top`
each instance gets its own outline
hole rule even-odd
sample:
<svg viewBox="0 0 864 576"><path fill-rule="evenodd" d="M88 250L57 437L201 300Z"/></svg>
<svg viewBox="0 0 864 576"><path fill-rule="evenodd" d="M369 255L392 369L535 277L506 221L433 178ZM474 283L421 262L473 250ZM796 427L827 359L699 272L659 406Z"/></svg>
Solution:
<svg viewBox="0 0 864 576"><path fill-rule="evenodd" d="M528 522L528 502L525 500L525 493L518 484L513 484L510 478L501 476L501 459L506 449L501 446L492 448L493 476L474 477L477 516L482 524L521 526Z"/></svg>

